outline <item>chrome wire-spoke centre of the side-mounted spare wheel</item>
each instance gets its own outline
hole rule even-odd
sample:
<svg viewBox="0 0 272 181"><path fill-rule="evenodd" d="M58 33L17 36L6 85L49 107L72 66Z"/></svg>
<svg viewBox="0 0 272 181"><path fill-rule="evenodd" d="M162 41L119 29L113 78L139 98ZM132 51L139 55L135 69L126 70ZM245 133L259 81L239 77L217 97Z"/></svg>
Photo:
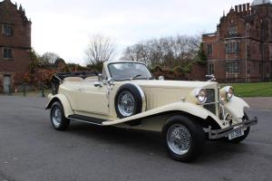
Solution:
<svg viewBox="0 0 272 181"><path fill-rule="evenodd" d="M118 109L121 115L129 117L135 109L135 100L130 91L122 91L118 97Z"/></svg>

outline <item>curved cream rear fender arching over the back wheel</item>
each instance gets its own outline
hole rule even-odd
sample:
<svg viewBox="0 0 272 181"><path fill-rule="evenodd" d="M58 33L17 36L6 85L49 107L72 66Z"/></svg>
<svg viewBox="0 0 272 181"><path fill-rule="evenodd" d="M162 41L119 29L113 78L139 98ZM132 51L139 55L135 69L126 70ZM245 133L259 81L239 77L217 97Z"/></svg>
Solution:
<svg viewBox="0 0 272 181"><path fill-rule="evenodd" d="M49 94L48 99L49 101L45 107L45 110L51 109L54 101L60 101L63 105L65 117L67 118L69 115L73 115L73 110L71 108L70 102L64 94L56 94L54 96L52 94Z"/></svg>

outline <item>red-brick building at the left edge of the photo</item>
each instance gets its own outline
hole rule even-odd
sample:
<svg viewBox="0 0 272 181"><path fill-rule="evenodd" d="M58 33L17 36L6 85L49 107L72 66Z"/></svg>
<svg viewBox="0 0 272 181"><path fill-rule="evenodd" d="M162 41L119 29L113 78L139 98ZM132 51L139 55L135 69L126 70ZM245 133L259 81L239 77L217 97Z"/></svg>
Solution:
<svg viewBox="0 0 272 181"><path fill-rule="evenodd" d="M29 71L31 24L22 5L0 2L0 92L14 89Z"/></svg>

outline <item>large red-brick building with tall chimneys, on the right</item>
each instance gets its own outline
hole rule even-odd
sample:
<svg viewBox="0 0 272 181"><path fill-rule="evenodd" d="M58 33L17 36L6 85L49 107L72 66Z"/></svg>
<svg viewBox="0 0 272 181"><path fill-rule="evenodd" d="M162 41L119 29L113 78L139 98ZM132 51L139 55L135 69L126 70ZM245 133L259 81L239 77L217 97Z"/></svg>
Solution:
<svg viewBox="0 0 272 181"><path fill-rule="evenodd" d="M208 73L218 81L272 80L272 3L254 0L223 14L216 33L202 35Z"/></svg>

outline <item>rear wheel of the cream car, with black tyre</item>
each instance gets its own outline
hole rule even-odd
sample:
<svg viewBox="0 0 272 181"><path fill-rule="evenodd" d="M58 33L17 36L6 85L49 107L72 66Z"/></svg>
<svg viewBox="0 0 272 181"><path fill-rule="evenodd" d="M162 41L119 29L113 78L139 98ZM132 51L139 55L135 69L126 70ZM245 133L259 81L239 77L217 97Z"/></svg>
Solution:
<svg viewBox="0 0 272 181"><path fill-rule="evenodd" d="M70 125L70 120L65 118L63 105L59 101L53 103L50 118L54 129L66 130Z"/></svg>

